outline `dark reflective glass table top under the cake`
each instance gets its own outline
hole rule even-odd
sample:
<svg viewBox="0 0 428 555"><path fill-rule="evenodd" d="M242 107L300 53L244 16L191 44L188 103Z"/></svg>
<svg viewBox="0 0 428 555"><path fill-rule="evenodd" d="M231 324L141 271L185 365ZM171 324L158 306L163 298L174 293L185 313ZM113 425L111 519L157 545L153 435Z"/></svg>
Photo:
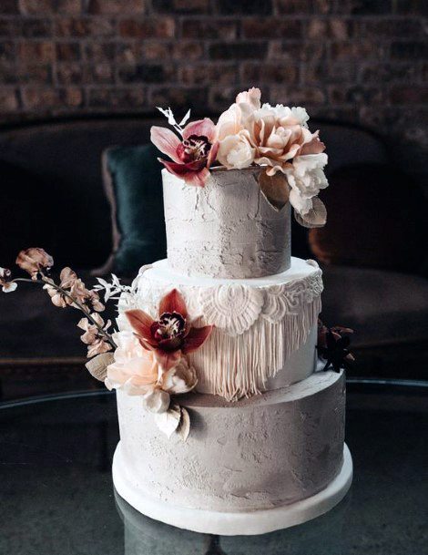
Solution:
<svg viewBox="0 0 428 555"><path fill-rule="evenodd" d="M428 384L350 380L354 480L330 513L262 536L217 537L142 516L113 489L116 399L84 392L0 404L0 553L428 554Z"/></svg>

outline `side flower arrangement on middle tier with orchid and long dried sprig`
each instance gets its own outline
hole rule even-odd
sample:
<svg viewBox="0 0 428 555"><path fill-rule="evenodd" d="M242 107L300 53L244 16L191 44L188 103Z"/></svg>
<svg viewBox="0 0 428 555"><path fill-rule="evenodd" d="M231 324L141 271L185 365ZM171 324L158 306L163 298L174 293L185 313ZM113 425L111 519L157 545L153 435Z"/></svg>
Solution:
<svg viewBox="0 0 428 555"><path fill-rule="evenodd" d="M20 282L36 283L42 285L56 307L72 307L83 313L77 326L84 332L80 339L87 344L90 374L110 390L121 389L127 395L140 396L143 406L154 414L158 427L168 437L174 434L186 441L189 413L178 405L176 396L197 385L187 355L208 339L213 326L193 326L183 297L174 289L160 300L156 320L141 310L127 310L130 329L110 331L110 320L105 322L100 313L108 301L136 303L132 286L121 284L112 275L111 283L97 278L98 284L87 289L68 267L61 270L56 281L51 272L52 256L39 248L19 252L16 264L30 278L14 278L9 269L0 267L2 291L13 293Z"/></svg>

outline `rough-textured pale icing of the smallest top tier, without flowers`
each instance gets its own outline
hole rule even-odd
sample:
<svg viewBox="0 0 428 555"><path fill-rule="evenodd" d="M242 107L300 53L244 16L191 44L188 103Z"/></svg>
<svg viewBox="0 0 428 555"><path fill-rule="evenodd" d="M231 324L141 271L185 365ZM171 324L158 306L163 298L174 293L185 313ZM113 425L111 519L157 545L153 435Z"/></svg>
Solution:
<svg viewBox="0 0 428 555"><path fill-rule="evenodd" d="M290 204L275 209L260 190L259 173L212 170L202 189L162 170L171 268L251 278L290 267Z"/></svg>

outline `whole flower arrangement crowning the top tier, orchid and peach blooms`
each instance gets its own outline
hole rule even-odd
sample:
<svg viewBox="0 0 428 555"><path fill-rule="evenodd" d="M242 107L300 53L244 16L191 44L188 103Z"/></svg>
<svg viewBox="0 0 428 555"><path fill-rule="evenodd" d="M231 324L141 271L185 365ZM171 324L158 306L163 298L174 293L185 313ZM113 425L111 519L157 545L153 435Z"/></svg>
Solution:
<svg viewBox="0 0 428 555"><path fill-rule="evenodd" d="M151 140L172 161L159 159L166 169L189 185L209 183L209 168L217 162L227 170L260 166L259 183L270 203L280 210L290 201L296 220L305 227L321 227L327 219L318 198L328 186L325 145L319 131L308 128L305 108L261 104L260 89L239 93L217 125L209 118L182 126L170 108L158 108L178 135L168 128L151 128Z"/></svg>

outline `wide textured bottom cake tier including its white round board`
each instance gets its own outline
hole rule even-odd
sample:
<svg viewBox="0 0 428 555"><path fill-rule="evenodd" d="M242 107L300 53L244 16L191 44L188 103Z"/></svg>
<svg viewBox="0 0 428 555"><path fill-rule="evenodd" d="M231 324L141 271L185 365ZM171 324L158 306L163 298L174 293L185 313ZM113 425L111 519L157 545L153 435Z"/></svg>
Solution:
<svg viewBox="0 0 428 555"><path fill-rule="evenodd" d="M153 519L205 533L260 534L312 519L351 484L344 395L344 376L327 372L233 404L180 398L191 418L181 443L138 397L118 391L117 492Z"/></svg>

